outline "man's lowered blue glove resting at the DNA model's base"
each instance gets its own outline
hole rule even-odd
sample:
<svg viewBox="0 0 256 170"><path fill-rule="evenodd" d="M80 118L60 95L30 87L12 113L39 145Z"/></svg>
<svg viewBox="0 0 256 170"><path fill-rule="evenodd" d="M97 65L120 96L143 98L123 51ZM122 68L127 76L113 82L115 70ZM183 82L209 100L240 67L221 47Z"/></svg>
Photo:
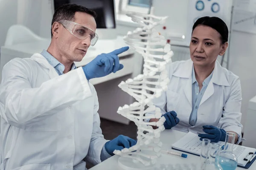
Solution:
<svg viewBox="0 0 256 170"><path fill-rule="evenodd" d="M134 139L131 139L127 136L119 135L115 139L108 141L105 144L105 150L108 152L108 154L113 156L114 150L122 150L123 148L129 148L134 146L136 143L137 141Z"/></svg>

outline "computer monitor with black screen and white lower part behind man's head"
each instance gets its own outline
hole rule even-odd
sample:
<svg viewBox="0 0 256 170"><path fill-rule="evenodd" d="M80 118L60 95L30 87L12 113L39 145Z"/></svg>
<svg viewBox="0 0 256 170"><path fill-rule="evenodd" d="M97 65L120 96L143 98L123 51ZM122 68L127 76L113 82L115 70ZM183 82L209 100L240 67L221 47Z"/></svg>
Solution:
<svg viewBox="0 0 256 170"><path fill-rule="evenodd" d="M116 38L115 0L53 0L53 10L67 3L85 6L97 13L95 20L99 40Z"/></svg>

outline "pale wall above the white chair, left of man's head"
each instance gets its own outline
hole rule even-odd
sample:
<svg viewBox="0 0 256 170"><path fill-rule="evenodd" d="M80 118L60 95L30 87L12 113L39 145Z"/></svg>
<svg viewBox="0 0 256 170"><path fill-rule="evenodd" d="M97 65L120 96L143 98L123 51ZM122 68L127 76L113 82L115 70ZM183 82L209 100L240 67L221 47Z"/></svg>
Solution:
<svg viewBox="0 0 256 170"><path fill-rule="evenodd" d="M10 26L21 24L41 37L51 36L52 0L0 0L0 46Z"/></svg>

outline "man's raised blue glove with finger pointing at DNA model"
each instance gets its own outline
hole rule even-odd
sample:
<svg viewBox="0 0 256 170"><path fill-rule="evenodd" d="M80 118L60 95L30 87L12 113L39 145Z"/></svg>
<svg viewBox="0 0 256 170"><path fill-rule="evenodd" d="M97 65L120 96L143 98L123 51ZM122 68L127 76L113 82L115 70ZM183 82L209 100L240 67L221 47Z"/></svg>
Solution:
<svg viewBox="0 0 256 170"><path fill-rule="evenodd" d="M119 63L118 54L127 51L129 47L119 48L108 54L100 54L87 65L83 66L86 78L92 79L96 77L104 77L108 74L116 73L116 71L124 68L124 65Z"/></svg>

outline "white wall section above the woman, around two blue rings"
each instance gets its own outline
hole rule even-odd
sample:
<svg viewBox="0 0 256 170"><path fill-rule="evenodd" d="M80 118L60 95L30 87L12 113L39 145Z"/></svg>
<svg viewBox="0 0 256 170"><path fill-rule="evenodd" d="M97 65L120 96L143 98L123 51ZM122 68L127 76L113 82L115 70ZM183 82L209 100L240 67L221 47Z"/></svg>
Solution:
<svg viewBox="0 0 256 170"><path fill-rule="evenodd" d="M232 0L215 0L222 2L219 13L213 13L210 9L212 1L203 0L205 8L203 11L195 10L195 0L153 0L154 14L157 16L168 16L166 23L158 26L158 30L166 38L169 38L175 45L189 46L193 20L201 16L217 16L220 17L230 26ZM221 6L221 7L222 7ZM166 29L163 29L166 26ZM185 39L182 39L182 36Z"/></svg>

